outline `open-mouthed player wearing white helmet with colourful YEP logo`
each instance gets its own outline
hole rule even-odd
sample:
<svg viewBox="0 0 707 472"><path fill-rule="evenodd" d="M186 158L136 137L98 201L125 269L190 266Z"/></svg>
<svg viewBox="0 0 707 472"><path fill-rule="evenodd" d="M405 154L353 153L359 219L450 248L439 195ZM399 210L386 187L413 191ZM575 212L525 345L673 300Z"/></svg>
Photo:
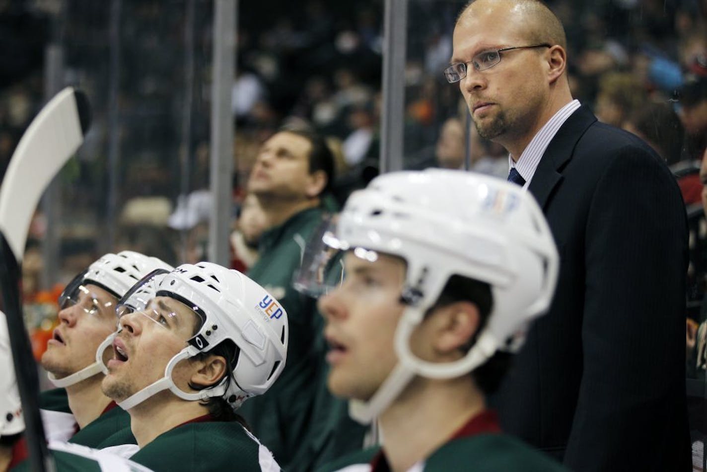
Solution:
<svg viewBox="0 0 707 472"><path fill-rule="evenodd" d="M137 445L117 446L118 432L103 454L156 471L279 470L234 411L285 364L287 313L271 294L235 270L185 264L145 277L118 313L102 386L128 411ZM72 470L72 456L54 459Z"/></svg>

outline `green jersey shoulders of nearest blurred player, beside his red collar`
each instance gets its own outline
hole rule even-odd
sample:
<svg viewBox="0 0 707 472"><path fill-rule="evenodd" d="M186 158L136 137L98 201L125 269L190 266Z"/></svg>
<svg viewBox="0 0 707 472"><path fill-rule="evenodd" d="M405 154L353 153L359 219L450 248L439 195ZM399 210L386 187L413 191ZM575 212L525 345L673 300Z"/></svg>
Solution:
<svg viewBox="0 0 707 472"><path fill-rule="evenodd" d="M376 461L375 471L370 466L379 452L380 447L371 447L327 464L318 472L389 471L390 468L384 457ZM421 468L416 470L426 472L561 472L568 470L562 464L514 437L487 433L452 439L417 465Z"/></svg>

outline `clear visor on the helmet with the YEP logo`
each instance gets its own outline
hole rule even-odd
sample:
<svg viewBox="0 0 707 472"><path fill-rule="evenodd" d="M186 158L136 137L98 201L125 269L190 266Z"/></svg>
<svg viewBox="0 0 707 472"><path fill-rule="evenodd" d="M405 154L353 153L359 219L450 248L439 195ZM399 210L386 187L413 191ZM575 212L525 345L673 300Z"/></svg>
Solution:
<svg viewBox="0 0 707 472"><path fill-rule="evenodd" d="M116 313L118 318L139 314L153 326L169 330L186 341L199 333L206 316L196 304L161 287L168 275L170 272L164 269L146 275L118 301Z"/></svg>

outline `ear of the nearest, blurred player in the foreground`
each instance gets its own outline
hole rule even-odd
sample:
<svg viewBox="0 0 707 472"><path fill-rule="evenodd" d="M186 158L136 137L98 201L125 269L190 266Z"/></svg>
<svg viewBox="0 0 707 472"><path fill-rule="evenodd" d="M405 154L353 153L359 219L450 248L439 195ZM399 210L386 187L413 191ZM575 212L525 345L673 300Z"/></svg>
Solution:
<svg viewBox="0 0 707 472"><path fill-rule="evenodd" d="M467 345L479 329L479 309L470 301L455 301L433 316L438 316L433 347L443 356Z"/></svg>

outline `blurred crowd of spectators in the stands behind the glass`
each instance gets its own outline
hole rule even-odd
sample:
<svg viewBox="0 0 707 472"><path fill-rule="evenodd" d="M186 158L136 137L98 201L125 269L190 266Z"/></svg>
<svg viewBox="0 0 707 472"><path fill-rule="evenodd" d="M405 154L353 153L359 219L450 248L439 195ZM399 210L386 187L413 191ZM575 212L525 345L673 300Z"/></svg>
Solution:
<svg viewBox="0 0 707 472"><path fill-rule="evenodd" d="M460 94L441 74L463 4L409 2L407 63L399 77L406 97L404 166L468 166L505 176L505 151L469 127ZM699 161L707 142L706 2L549 4L566 25L573 96L591 105L600 120L651 144L674 169L686 204L698 203ZM61 177L62 206L72 209L62 214L61 231L69 265L81 267L95 258L103 248L93 241L109 226L117 226L120 248L172 263L205 255L213 5L204 0L195 0L193 9L189 5L0 4L0 37L16 45L0 56L0 170L45 100L43 58L50 43L64 50L62 80L84 88L95 110L79 159ZM284 2L276 11L240 2L231 96L234 225L238 214L240 221L248 219L253 207L245 203L243 187L257 150L282 126L327 137L337 161L339 205L377 175L382 17L383 2L373 0ZM105 221L105 160L111 152L119 156L117 212L114 221ZM39 221L33 226L37 238L42 237ZM247 248L257 238L250 229L243 233L231 240L238 253L234 263L247 265ZM90 257L81 257L84 253Z"/></svg>

